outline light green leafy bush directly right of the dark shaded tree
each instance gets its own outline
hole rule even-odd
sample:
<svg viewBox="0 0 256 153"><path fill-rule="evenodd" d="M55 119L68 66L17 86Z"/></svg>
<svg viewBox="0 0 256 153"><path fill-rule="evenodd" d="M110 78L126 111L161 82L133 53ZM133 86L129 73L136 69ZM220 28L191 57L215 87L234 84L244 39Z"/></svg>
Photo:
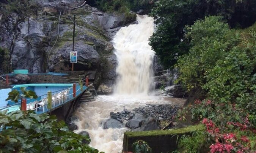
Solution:
<svg viewBox="0 0 256 153"><path fill-rule="evenodd" d="M203 86L206 82L204 73L212 69L217 60L224 58L226 50L234 43L229 37L235 36L230 34L228 24L221 22L221 17L206 17L191 27L187 26L186 30L191 47L189 54L179 58L176 67L180 73L177 81L190 90Z"/></svg>

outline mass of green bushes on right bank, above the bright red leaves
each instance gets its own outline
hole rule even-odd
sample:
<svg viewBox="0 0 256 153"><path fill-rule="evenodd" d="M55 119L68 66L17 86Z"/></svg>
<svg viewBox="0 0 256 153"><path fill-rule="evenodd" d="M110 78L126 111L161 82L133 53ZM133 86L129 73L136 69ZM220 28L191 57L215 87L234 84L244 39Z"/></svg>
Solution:
<svg viewBox="0 0 256 153"><path fill-rule="evenodd" d="M191 48L176 65L178 81L187 89L204 89L213 101L192 107L192 117L225 124L241 122L248 114L256 126L255 29L241 34L230 30L220 17L206 17L187 27L186 37L191 40Z"/></svg>

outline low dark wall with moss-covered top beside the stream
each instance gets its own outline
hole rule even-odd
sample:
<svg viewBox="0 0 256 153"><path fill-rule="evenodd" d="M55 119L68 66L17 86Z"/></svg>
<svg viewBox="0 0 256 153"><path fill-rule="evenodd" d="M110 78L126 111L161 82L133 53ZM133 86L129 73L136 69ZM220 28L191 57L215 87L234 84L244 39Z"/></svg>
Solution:
<svg viewBox="0 0 256 153"><path fill-rule="evenodd" d="M146 141L152 148L152 153L167 153L177 149L177 142L182 135L191 135L196 130L203 130L202 124L180 129L153 130L142 132L125 132L123 151L133 151L132 144L137 140Z"/></svg>

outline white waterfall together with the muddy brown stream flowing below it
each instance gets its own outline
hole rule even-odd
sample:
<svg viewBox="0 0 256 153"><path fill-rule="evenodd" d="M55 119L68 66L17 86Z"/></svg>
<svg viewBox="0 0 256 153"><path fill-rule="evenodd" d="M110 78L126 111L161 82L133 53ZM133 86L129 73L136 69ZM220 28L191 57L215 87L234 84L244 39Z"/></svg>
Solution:
<svg viewBox="0 0 256 153"><path fill-rule="evenodd" d="M153 19L146 15L138 15L137 21L138 24L121 28L113 39L118 58L115 94L97 96L96 101L83 103L75 112L79 129L74 132L88 132L90 146L105 153L121 152L124 132L129 130L126 127L103 129L110 112L121 112L124 108L131 111L146 104L184 103L178 98L148 96L153 84L151 66L154 56L148 39L154 31L154 24Z"/></svg>

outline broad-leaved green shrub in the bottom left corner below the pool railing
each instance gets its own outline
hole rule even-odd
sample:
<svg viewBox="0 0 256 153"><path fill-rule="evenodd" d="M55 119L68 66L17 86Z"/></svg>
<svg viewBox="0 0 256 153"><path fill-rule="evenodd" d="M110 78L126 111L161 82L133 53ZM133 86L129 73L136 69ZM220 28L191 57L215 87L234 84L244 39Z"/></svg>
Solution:
<svg viewBox="0 0 256 153"><path fill-rule="evenodd" d="M83 144L87 136L69 131L64 121L55 116L35 112L0 112L1 153L98 153Z"/></svg>

